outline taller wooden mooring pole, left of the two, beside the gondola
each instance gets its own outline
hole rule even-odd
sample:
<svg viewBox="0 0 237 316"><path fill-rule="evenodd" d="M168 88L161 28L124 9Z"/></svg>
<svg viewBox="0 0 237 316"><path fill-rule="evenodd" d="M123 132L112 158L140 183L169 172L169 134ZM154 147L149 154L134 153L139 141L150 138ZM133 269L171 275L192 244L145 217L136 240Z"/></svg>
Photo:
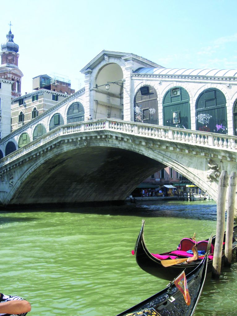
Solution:
<svg viewBox="0 0 237 316"><path fill-rule="evenodd" d="M218 197L217 197L217 223L216 223L216 237L215 248L213 255L212 265L212 278L219 279L221 274L221 254L223 248L224 229L225 229L225 202L226 202L226 190L228 185L227 171L221 171L219 185L218 185Z"/></svg>

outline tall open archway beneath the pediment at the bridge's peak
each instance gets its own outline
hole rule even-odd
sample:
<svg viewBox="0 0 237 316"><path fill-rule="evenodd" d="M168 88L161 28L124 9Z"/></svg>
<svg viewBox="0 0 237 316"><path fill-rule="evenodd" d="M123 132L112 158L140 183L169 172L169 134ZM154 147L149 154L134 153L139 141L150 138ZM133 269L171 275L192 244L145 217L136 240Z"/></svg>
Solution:
<svg viewBox="0 0 237 316"><path fill-rule="evenodd" d="M123 119L123 72L118 64L101 68L95 80L93 119Z"/></svg>

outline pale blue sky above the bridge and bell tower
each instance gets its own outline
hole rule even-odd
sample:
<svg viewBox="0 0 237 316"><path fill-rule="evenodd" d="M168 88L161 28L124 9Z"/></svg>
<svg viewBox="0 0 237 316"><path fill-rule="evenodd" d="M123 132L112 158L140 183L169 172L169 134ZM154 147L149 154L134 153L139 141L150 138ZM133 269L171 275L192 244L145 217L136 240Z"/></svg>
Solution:
<svg viewBox="0 0 237 316"><path fill-rule="evenodd" d="M84 86L80 70L101 51L134 53L165 68L237 69L237 0L11 0L0 43L19 45L22 94L47 74Z"/></svg>

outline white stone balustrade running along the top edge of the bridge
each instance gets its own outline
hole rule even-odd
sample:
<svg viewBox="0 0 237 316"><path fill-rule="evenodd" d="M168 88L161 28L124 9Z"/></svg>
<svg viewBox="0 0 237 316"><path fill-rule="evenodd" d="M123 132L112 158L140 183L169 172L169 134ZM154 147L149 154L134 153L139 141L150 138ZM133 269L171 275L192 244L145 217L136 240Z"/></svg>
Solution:
<svg viewBox="0 0 237 316"><path fill-rule="evenodd" d="M198 146L212 147L215 149L237 151L236 136L221 135L220 137L220 134L209 132L177 129L161 125L143 124L115 119L98 119L91 120L90 123L88 123L88 121L84 121L60 125L52 131L49 131L48 133L28 143L24 147L17 149L8 156L3 157L0 162L0 167L59 136L99 130L117 131L118 136L125 133L127 135L163 139L167 142L189 143Z"/></svg>

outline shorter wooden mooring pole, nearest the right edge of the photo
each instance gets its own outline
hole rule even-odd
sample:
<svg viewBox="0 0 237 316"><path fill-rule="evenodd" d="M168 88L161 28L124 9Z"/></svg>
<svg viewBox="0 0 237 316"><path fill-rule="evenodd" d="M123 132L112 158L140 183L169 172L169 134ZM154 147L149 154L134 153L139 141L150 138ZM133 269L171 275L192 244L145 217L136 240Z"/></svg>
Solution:
<svg viewBox="0 0 237 316"><path fill-rule="evenodd" d="M236 173L232 172L229 179L228 188L228 208L226 220L226 243L225 243L225 259L224 264L230 267L232 260L232 243L233 243L233 227L234 227L234 201L236 190Z"/></svg>

